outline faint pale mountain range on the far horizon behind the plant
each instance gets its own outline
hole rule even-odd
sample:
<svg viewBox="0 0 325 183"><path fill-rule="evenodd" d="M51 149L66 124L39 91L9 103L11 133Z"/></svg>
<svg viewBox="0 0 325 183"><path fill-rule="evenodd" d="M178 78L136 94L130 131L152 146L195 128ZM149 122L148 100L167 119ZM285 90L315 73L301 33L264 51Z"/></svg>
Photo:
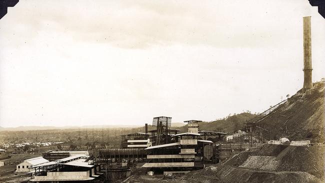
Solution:
<svg viewBox="0 0 325 183"><path fill-rule="evenodd" d="M180 127L185 125L182 122L172 122L171 126ZM1 127L0 131L26 131L26 130L47 130L47 129L78 129L78 128L135 128L143 125L84 125L84 126L18 126Z"/></svg>

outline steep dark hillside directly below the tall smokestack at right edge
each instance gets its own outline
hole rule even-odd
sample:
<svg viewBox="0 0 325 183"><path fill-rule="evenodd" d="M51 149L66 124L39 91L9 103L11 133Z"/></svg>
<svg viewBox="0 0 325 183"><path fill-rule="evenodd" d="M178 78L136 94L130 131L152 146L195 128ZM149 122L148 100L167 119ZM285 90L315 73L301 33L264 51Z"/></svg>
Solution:
<svg viewBox="0 0 325 183"><path fill-rule="evenodd" d="M324 82L315 82L310 93L299 90L285 104L266 115L259 126L273 125L274 139L324 141Z"/></svg>

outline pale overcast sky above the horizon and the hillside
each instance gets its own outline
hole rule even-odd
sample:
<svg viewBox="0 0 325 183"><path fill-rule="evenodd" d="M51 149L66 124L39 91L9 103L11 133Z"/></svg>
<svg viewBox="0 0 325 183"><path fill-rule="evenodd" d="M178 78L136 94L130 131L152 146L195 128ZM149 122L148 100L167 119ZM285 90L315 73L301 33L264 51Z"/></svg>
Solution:
<svg viewBox="0 0 325 183"><path fill-rule="evenodd" d="M0 126L211 121L324 77L308 0L20 0L0 19Z"/></svg>

